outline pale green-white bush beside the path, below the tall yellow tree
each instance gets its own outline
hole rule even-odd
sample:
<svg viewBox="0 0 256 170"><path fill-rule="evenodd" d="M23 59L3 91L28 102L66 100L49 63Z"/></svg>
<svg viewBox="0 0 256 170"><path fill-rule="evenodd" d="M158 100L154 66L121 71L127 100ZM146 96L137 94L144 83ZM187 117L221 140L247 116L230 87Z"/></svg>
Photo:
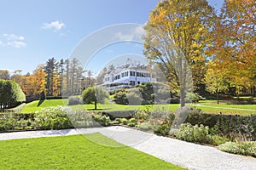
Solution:
<svg viewBox="0 0 256 170"><path fill-rule="evenodd" d="M189 142L207 143L207 135L209 134L209 127L204 125L192 126L189 123L184 123L175 133L178 139L183 139Z"/></svg>

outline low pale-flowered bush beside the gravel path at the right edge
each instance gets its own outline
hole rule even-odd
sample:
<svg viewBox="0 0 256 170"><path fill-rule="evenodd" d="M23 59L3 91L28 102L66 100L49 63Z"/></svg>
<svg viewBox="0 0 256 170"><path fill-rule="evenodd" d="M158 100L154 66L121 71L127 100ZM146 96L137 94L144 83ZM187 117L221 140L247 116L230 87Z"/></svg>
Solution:
<svg viewBox="0 0 256 170"><path fill-rule="evenodd" d="M218 149L233 154L256 157L256 141L245 141L241 143L226 142L220 144Z"/></svg>

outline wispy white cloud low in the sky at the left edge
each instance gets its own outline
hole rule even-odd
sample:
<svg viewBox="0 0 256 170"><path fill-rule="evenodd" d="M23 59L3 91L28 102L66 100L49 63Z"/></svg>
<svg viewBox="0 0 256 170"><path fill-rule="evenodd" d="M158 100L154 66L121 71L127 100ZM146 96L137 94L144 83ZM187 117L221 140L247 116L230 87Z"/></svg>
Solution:
<svg viewBox="0 0 256 170"><path fill-rule="evenodd" d="M25 48L25 37L16 36L15 34L3 34L3 41L0 41L1 46L10 46L14 48Z"/></svg>

